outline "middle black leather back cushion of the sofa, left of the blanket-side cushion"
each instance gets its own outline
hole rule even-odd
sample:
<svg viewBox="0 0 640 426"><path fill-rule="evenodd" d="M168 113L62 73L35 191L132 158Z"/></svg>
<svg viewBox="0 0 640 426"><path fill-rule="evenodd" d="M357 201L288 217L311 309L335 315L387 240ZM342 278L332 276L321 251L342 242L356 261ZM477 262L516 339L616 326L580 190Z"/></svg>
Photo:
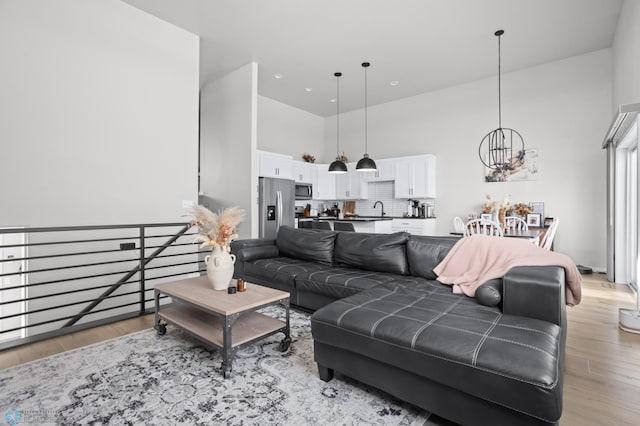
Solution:
<svg viewBox="0 0 640 426"><path fill-rule="evenodd" d="M338 232L334 261L356 269L406 275L409 273L406 259L408 235L404 232Z"/></svg>

